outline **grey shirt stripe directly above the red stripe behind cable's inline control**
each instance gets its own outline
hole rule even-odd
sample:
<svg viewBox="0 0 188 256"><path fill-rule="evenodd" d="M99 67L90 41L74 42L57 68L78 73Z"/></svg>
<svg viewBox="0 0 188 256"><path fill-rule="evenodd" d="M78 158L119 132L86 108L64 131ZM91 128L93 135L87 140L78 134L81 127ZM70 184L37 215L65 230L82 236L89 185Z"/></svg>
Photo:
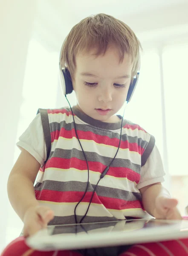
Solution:
<svg viewBox="0 0 188 256"><path fill-rule="evenodd" d="M102 157L95 152L84 151L84 153L86 155L87 161L99 162L104 164L105 166L108 166L113 159L113 157ZM49 158L51 157L58 157L58 158L65 158L65 159L71 159L72 157L75 157L79 160L85 161L83 152L75 148L72 148L72 150L55 148L55 151L51 151L50 153ZM111 166L126 167L137 173L140 173L140 169L141 169L139 164L132 163L128 159L120 159L120 158L115 158ZM59 166L59 168L61 168L61 166ZM87 166L86 166L86 169L87 169Z"/></svg>

